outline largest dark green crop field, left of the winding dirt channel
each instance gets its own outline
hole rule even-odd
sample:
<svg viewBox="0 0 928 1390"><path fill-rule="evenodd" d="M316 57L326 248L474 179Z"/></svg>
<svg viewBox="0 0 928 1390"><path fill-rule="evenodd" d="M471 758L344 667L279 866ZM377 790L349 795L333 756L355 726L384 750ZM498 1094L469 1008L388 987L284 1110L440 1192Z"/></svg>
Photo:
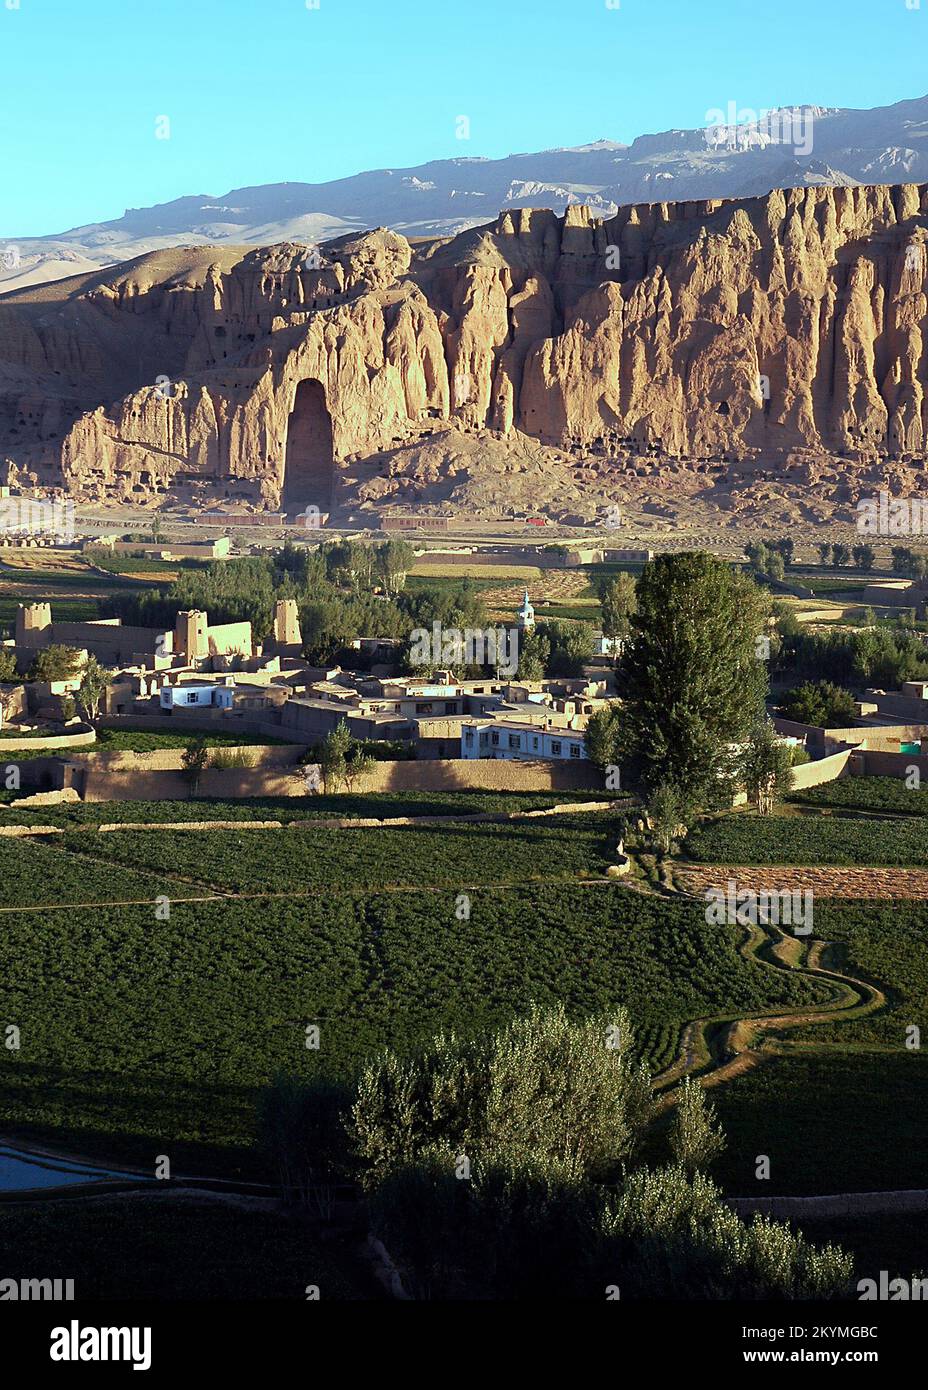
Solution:
<svg viewBox="0 0 928 1390"><path fill-rule="evenodd" d="M347 1077L386 1045L557 999L577 1016L625 1004L660 1065L690 1017L825 992L745 959L740 929L624 888L474 891L468 920L456 908L447 891L10 915L0 1022L21 1048L0 1069L0 1129L139 1165L168 1144L178 1170L260 1176L256 1090L278 1070Z"/></svg>

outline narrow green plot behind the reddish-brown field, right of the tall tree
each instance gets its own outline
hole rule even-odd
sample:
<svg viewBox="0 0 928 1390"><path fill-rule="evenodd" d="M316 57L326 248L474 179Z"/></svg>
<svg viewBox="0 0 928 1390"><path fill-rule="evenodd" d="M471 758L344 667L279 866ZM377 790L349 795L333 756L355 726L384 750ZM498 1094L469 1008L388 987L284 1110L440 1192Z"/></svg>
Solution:
<svg viewBox="0 0 928 1390"><path fill-rule="evenodd" d="M720 865L928 865L918 821L842 816L722 816L686 838L683 853Z"/></svg>

